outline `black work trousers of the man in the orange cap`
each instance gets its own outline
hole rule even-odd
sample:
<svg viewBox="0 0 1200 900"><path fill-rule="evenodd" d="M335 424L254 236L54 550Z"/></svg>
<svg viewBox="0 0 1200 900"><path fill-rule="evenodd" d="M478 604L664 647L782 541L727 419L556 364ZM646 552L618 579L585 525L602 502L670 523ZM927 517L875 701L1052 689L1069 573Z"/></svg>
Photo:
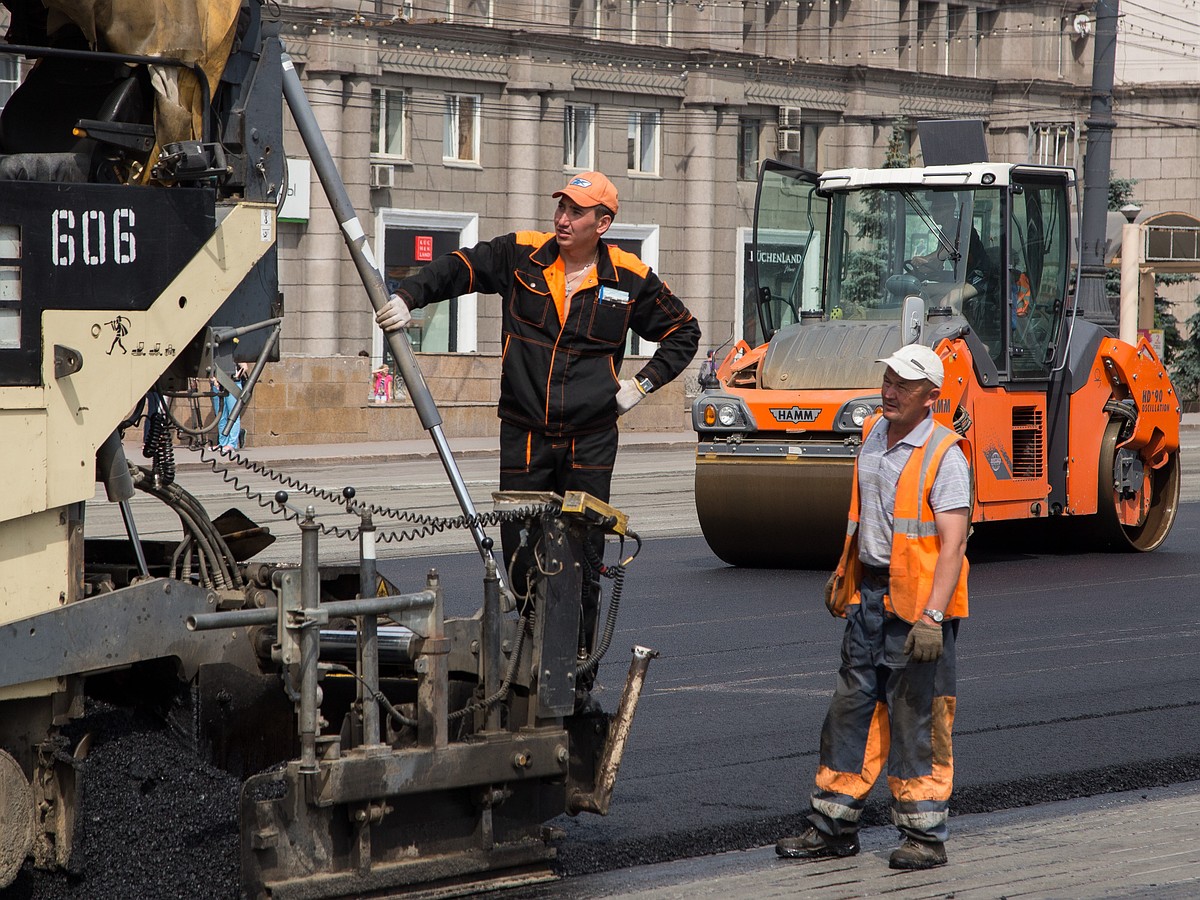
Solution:
<svg viewBox="0 0 1200 900"><path fill-rule="evenodd" d="M500 490L502 491L553 491L562 496L566 491L586 491L593 497L608 502L612 486L612 466L617 460L617 426L592 434L577 437L547 437L535 431L500 421ZM504 565L512 572L512 589L520 595L528 590L524 574L533 564L533 545L536 535L526 535L521 546L522 524L505 522L500 526L500 546ZM594 534L592 546L596 558L604 557L604 535ZM516 565L512 557L521 548ZM580 617L580 648L590 653L595 642L600 613L600 578L595 575L583 586ZM580 684L590 690L590 684Z"/></svg>

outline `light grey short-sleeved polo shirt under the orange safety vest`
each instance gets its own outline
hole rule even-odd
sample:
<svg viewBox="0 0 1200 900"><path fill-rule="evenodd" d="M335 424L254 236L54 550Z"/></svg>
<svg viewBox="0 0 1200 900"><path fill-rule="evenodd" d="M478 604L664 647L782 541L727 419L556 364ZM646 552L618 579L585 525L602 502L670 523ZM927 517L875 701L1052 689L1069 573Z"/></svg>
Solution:
<svg viewBox="0 0 1200 900"><path fill-rule="evenodd" d="M858 454L858 558L866 565L886 566L892 558L892 514L900 473L932 430L930 414L888 450L888 421L881 416L863 442ZM970 508L971 473L960 446L952 446L943 457L929 502L935 512Z"/></svg>

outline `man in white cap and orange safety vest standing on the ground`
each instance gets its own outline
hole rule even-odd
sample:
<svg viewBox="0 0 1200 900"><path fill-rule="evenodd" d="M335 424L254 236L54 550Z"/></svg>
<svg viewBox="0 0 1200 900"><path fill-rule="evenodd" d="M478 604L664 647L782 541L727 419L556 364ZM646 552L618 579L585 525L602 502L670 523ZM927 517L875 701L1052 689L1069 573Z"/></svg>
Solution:
<svg viewBox="0 0 1200 900"><path fill-rule="evenodd" d="M858 853L858 821L887 766L902 844L893 869L943 865L954 785L954 644L967 616L971 475L960 437L934 421L942 360L910 344L878 360L883 414L864 426L850 524L826 605L845 617L808 828L781 857Z"/></svg>

